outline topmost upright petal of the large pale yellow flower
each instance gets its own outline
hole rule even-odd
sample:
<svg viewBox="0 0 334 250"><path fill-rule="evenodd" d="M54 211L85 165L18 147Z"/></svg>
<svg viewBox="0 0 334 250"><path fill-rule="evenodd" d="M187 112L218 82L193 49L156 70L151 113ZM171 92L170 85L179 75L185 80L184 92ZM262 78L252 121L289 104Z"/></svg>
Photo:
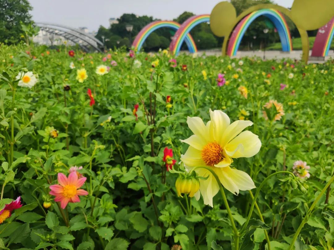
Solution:
<svg viewBox="0 0 334 250"><path fill-rule="evenodd" d="M220 110L212 111L210 109L210 118L211 118L211 127L213 133L213 139L216 142L220 142L221 137L223 136L224 131L230 124L229 117Z"/></svg>

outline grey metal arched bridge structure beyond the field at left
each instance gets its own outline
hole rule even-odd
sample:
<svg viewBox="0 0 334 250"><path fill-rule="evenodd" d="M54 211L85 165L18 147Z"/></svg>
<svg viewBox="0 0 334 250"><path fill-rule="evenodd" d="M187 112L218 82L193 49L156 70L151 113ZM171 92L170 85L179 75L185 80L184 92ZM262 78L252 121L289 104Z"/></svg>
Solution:
<svg viewBox="0 0 334 250"><path fill-rule="evenodd" d="M90 47L94 48L99 52L102 52L104 50L104 45L100 40L96 39L94 36L82 32L81 30L53 23L35 23L35 24L40 28L40 30L43 30L45 32L57 36L62 36L65 39L78 44L86 52L90 50Z"/></svg>

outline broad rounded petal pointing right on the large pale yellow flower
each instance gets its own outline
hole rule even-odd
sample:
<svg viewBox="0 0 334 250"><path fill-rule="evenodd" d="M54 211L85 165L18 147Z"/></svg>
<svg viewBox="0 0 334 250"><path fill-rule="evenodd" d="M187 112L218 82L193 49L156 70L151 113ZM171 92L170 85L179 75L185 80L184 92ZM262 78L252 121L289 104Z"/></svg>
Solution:
<svg viewBox="0 0 334 250"><path fill-rule="evenodd" d="M243 131L226 145L225 151L232 158L252 157L260 151L261 145L259 136Z"/></svg>

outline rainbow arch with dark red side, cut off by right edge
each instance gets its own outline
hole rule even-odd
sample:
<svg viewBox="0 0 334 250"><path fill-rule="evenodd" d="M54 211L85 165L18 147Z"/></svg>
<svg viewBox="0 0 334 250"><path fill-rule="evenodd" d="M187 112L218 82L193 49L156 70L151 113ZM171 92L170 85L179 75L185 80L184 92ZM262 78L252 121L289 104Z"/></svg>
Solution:
<svg viewBox="0 0 334 250"><path fill-rule="evenodd" d="M325 57L328 55L331 42L334 37L334 17L322 26L315 37L311 56Z"/></svg>

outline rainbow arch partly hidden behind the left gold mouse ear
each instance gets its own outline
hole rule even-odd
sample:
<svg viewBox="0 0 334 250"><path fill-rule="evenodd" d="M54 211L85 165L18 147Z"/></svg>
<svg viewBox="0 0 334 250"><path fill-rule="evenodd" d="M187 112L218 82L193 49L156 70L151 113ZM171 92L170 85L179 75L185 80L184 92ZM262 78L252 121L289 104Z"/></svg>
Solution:
<svg viewBox="0 0 334 250"><path fill-rule="evenodd" d="M172 42L169 45L170 52L174 55L178 55L183 41L189 35L189 32L192 30L192 28L194 28L196 25L200 23L209 21L210 21L210 15L208 14L189 17L176 31L172 39Z"/></svg>

